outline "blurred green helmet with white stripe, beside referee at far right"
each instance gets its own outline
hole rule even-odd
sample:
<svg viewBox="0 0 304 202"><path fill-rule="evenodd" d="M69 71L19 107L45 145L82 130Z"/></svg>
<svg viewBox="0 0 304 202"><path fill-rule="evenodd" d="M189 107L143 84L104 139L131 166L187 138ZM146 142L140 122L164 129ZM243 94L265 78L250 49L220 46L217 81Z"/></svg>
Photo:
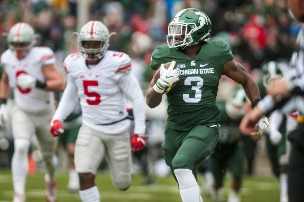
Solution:
<svg viewBox="0 0 304 202"><path fill-rule="evenodd" d="M269 61L262 67L263 85L266 88L271 79L282 77L282 64L276 61Z"/></svg>

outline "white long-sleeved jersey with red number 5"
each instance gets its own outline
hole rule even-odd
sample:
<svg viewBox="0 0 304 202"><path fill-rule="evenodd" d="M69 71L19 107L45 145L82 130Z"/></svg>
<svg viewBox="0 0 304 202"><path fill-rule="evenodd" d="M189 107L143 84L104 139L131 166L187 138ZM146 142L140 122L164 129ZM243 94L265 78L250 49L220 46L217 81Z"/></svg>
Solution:
<svg viewBox="0 0 304 202"><path fill-rule="evenodd" d="M53 120L64 120L80 98L82 122L107 134L117 134L129 127L126 120L126 98L133 104L134 133L145 133L144 97L131 70L127 54L106 51L96 65L87 65L81 53L70 54L64 60L67 87Z"/></svg>

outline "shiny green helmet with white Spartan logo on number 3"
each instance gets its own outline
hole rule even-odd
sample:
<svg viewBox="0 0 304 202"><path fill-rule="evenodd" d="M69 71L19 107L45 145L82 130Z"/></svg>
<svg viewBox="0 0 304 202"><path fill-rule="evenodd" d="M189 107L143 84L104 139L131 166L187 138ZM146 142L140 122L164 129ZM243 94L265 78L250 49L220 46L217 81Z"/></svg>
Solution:
<svg viewBox="0 0 304 202"><path fill-rule="evenodd" d="M184 9L178 12L168 25L167 43L170 48L184 49L210 39L209 17L198 9Z"/></svg>

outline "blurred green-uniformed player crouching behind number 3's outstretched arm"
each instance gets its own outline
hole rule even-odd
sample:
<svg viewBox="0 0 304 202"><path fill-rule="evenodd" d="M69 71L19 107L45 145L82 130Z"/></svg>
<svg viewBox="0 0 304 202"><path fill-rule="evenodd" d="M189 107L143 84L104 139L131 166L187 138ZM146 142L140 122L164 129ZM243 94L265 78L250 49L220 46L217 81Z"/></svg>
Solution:
<svg viewBox="0 0 304 202"><path fill-rule="evenodd" d="M244 174L244 144L241 141L239 124L246 114L246 94L237 86L232 96L225 101L216 101L221 117L219 124L219 139L213 152L209 156L209 168L214 176L214 191L212 196L215 201L224 201L221 187L228 168L232 175L231 190L228 202L240 201L240 188Z"/></svg>

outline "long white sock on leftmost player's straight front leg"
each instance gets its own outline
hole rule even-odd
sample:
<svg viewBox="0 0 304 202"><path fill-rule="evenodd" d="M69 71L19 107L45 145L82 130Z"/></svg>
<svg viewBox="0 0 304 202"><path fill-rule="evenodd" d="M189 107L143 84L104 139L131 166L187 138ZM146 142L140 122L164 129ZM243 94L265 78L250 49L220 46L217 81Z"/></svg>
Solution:
<svg viewBox="0 0 304 202"><path fill-rule="evenodd" d="M29 140L18 138L14 141L14 147L14 155L12 158L14 192L24 194L28 168Z"/></svg>

